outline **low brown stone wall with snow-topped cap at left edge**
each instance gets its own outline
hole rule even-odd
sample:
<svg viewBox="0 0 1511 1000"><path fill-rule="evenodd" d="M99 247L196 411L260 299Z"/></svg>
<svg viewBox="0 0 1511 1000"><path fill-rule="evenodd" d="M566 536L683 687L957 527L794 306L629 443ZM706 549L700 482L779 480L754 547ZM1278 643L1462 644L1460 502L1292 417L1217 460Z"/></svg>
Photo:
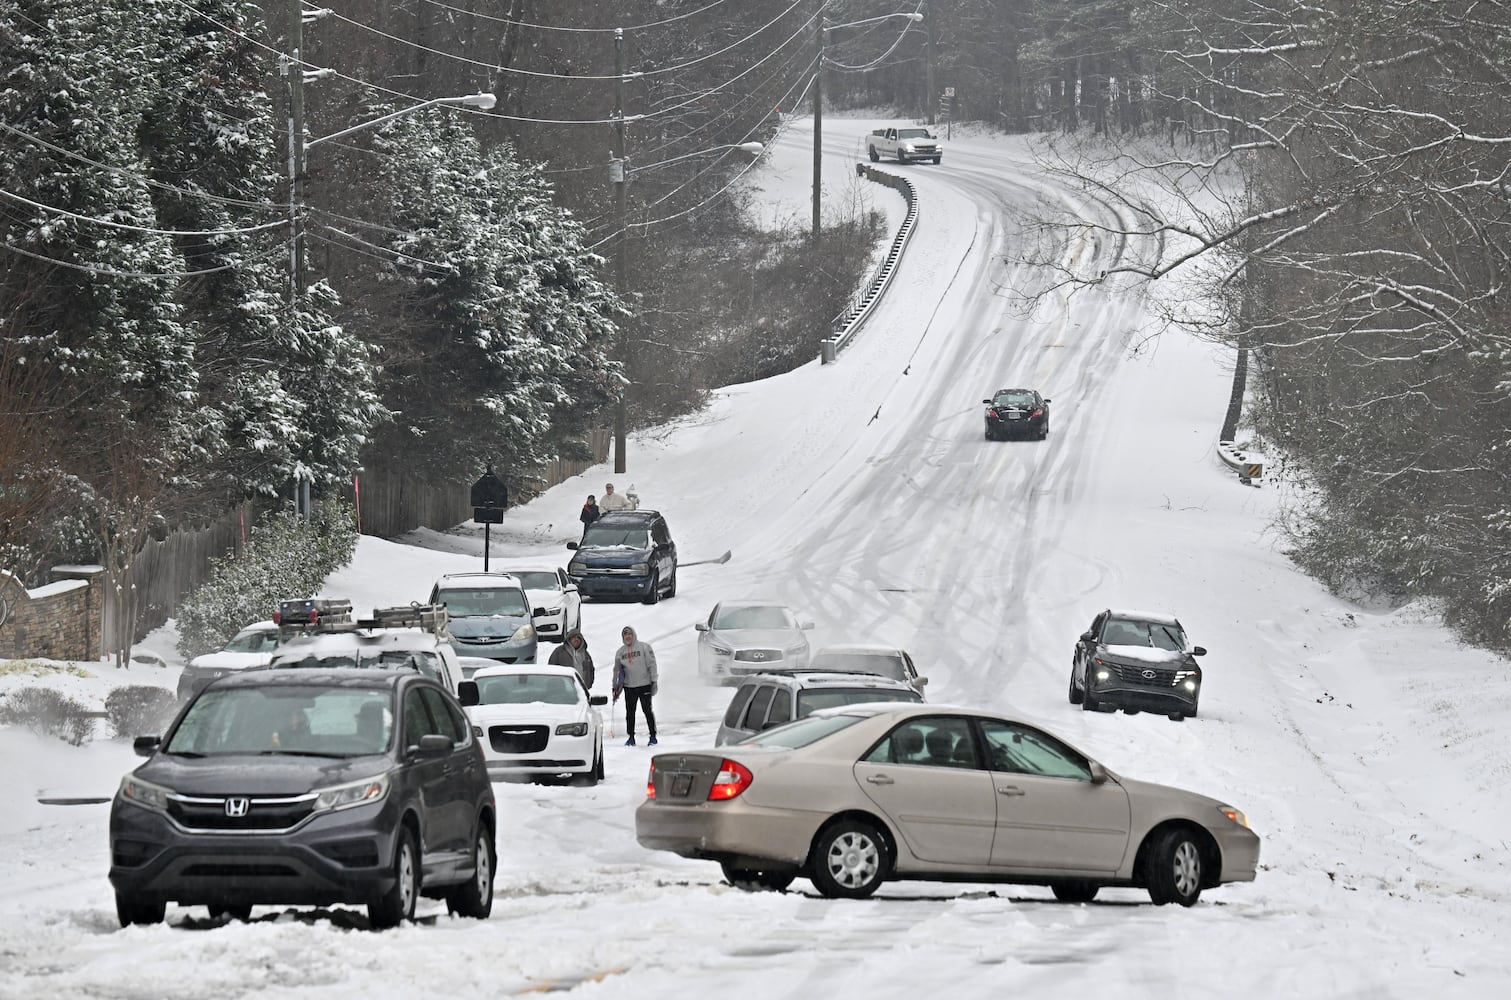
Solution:
<svg viewBox="0 0 1511 1000"><path fill-rule="evenodd" d="M100 659L103 566L53 566L53 583L30 591L0 569L0 659Z"/></svg>

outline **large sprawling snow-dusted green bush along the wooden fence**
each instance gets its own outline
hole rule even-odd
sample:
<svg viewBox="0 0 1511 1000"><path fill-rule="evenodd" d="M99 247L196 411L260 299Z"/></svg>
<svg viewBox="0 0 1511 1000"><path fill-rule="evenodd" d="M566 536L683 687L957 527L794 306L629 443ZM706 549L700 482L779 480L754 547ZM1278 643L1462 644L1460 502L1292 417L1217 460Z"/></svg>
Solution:
<svg viewBox="0 0 1511 1000"><path fill-rule="evenodd" d="M314 597L325 577L357 548L351 505L331 500L308 521L280 511L252 529L246 550L213 560L210 579L178 604L178 653L184 659L222 648L278 601Z"/></svg>

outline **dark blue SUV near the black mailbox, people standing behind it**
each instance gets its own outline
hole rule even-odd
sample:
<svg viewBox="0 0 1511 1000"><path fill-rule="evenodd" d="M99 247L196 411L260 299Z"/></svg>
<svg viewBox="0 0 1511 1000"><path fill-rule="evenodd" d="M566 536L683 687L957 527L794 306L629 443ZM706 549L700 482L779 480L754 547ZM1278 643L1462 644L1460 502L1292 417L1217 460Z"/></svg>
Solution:
<svg viewBox="0 0 1511 1000"><path fill-rule="evenodd" d="M657 511L613 511L588 526L567 576L583 597L639 598L654 604L677 595L677 542Z"/></svg>

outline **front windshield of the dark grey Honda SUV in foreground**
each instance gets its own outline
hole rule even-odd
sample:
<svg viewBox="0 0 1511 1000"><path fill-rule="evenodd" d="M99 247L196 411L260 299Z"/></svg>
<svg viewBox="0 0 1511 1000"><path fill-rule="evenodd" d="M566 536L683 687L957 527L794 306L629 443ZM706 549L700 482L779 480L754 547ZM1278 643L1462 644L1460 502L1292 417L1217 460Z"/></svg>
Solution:
<svg viewBox="0 0 1511 1000"><path fill-rule="evenodd" d="M388 749L387 690L266 684L201 693L168 737L168 754L367 757Z"/></svg>

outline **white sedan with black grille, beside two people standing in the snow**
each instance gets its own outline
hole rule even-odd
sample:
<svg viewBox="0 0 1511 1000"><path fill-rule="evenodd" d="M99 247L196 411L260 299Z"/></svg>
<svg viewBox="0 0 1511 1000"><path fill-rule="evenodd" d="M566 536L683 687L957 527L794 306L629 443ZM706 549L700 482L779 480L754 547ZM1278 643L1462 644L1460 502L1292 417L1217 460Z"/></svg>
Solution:
<svg viewBox="0 0 1511 1000"><path fill-rule="evenodd" d="M499 665L461 683L461 702L494 781L603 778L607 695L589 695L577 671L544 663Z"/></svg>

